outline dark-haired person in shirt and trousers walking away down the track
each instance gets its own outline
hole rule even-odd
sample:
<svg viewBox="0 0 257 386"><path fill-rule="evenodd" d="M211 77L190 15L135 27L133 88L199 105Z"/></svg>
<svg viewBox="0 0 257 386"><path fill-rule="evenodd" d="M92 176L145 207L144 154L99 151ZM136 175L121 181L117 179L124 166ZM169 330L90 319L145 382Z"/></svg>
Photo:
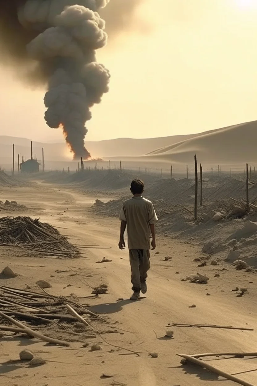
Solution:
<svg viewBox="0 0 257 386"><path fill-rule="evenodd" d="M124 232L127 227L129 261L131 266L131 283L133 295L131 300L139 300L140 291L147 291L146 278L150 268L150 233L152 235L152 249L155 243L155 222L158 220L151 201L142 197L144 183L134 179L130 185L133 197L124 201L119 215L121 220L121 233L119 249L125 248Z"/></svg>

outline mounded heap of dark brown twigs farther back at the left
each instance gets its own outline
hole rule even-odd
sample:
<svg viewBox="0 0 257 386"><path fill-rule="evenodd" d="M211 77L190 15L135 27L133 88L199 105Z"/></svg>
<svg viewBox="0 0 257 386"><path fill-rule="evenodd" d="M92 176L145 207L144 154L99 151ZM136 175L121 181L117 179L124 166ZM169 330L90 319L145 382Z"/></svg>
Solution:
<svg viewBox="0 0 257 386"><path fill-rule="evenodd" d="M0 218L0 246L14 246L39 253L41 256L79 257L81 252L67 237L38 218Z"/></svg>

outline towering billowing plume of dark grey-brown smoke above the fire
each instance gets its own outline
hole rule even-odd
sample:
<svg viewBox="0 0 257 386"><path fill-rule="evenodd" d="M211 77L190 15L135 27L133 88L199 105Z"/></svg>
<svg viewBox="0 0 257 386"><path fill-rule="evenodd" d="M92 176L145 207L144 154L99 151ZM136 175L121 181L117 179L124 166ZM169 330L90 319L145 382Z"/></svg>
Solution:
<svg viewBox="0 0 257 386"><path fill-rule="evenodd" d="M74 159L90 157L84 146L86 122L90 108L109 90L109 71L96 61L96 50L107 42L98 11L107 3L0 0L1 56L18 62L27 82L47 87L45 121L62 127Z"/></svg>

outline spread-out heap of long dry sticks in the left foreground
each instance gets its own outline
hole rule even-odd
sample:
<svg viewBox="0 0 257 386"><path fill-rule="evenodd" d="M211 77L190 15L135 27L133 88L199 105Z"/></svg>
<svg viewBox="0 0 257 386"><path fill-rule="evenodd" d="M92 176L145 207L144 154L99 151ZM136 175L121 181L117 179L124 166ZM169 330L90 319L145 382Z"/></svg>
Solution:
<svg viewBox="0 0 257 386"><path fill-rule="evenodd" d="M72 341L85 342L98 334L102 324L108 325L107 320L86 307L87 304L79 303L72 295L53 296L46 292L0 286L0 332L25 334L61 345L69 345L68 342ZM74 314L83 315L84 324ZM98 325L94 327L96 323Z"/></svg>

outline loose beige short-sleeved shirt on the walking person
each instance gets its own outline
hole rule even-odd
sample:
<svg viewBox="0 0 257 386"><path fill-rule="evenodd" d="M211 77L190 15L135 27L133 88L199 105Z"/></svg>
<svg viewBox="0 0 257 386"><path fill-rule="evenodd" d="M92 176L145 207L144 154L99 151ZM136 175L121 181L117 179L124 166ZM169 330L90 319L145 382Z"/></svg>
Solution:
<svg viewBox="0 0 257 386"><path fill-rule="evenodd" d="M128 249L150 249L150 226L158 218L151 201L146 198L132 197L124 201L119 219L126 221Z"/></svg>

